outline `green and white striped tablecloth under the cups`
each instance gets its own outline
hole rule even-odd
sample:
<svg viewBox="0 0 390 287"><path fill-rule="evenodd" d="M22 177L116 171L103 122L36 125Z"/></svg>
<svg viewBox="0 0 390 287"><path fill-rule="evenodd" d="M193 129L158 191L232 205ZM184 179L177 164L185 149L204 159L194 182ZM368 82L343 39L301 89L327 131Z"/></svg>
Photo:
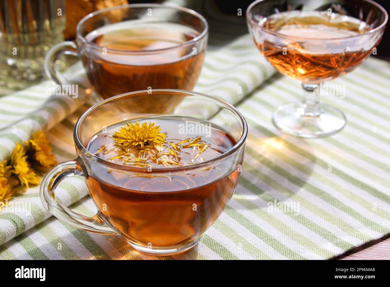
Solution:
<svg viewBox="0 0 390 287"><path fill-rule="evenodd" d="M195 91L233 103L249 125L239 185L220 218L192 250L150 257L120 236L87 233L50 217L39 187L31 187L14 198L31 202L31 212L0 212L0 259L328 259L389 233L390 65L371 56L330 82L346 87L345 98L322 98L346 113L342 132L314 140L282 134L271 114L301 98L300 84L275 73L248 34L232 39L239 29L226 29L232 20L210 14L216 7L204 3L211 7L194 8L208 11L214 32ZM71 69L74 74L80 65ZM46 96L46 84L0 98L0 160L38 128L48 130L58 162L75 157L73 126L87 105ZM92 215L96 208L86 194L75 176L58 188L62 202ZM271 210L275 203L296 210Z"/></svg>

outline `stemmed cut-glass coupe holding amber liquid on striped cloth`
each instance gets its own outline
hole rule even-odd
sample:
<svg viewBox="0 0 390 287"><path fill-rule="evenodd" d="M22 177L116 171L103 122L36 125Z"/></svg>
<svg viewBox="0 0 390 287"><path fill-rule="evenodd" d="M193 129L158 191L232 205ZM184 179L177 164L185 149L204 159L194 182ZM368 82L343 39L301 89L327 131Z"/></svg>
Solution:
<svg viewBox="0 0 390 287"><path fill-rule="evenodd" d="M388 20L385 9L371 0L257 0L248 7L246 20L262 55L310 92L300 102L278 107L275 126L306 138L341 130L346 117L320 103L318 89L354 70L374 51Z"/></svg>

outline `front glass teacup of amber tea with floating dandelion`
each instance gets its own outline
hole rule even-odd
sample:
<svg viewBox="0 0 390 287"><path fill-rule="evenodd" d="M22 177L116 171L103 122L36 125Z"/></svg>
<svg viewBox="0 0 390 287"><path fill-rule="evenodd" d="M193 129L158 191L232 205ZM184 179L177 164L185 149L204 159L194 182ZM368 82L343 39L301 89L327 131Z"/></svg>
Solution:
<svg viewBox="0 0 390 287"><path fill-rule="evenodd" d="M197 244L232 197L247 133L239 111L204 94L160 89L115 96L80 117L74 128L78 157L46 174L41 200L58 219L90 232L120 234L138 251L183 252ZM55 200L59 182L72 175L85 177L95 216Z"/></svg>

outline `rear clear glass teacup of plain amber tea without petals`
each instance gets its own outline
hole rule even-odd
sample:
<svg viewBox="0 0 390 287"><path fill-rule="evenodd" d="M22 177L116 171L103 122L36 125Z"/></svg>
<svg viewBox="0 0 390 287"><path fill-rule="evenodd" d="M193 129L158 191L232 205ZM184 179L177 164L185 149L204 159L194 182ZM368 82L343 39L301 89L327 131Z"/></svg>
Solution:
<svg viewBox="0 0 390 287"><path fill-rule="evenodd" d="M69 84L55 68L62 53L81 57L100 99L144 89L192 90L203 65L208 25L197 12L159 4L95 11L77 25L76 43L53 46L45 71Z"/></svg>

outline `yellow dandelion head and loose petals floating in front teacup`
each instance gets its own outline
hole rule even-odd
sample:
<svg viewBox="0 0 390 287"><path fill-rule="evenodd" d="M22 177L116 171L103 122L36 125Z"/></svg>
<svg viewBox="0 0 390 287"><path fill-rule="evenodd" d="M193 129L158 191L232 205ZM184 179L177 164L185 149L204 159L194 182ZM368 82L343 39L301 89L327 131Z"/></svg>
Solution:
<svg viewBox="0 0 390 287"><path fill-rule="evenodd" d="M204 142L201 137L187 138L177 143L172 141L167 143L167 134L161 133L160 130L160 126L155 126L151 122L149 125L146 122L140 125L137 121L135 124L126 123L119 131L113 133L111 138L115 141L116 155L107 160L112 162L119 160L125 165L143 168L149 168L154 164L170 167L193 164L195 160L204 161L200 154L210 145ZM188 152L188 149L192 151ZM103 145L95 154L109 152ZM182 162L184 154L191 158L188 162Z"/></svg>

